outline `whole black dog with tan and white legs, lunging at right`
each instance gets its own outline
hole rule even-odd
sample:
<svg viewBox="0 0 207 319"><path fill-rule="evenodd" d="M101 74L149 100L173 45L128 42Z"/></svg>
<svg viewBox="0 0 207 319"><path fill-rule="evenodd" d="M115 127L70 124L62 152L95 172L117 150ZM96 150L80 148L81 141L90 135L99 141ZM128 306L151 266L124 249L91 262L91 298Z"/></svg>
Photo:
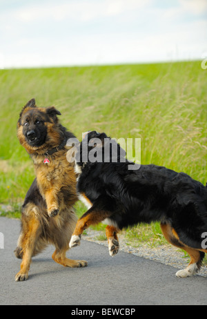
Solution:
<svg viewBox="0 0 207 319"><path fill-rule="evenodd" d="M140 222L161 222L161 230L170 244L190 255L190 264L177 271L178 277L193 276L201 267L207 249L207 188L185 173L176 173L155 165L141 165L128 170L131 162L124 158L117 145L117 162L83 160L83 146L99 138L101 144L88 147L101 150L102 160L110 138L105 133L88 133L76 154L77 191L88 205L79 218L70 240L70 247L80 243L81 233L91 224L105 220L110 255L119 249L117 231ZM92 143L90 142L90 145ZM86 157L86 156L85 156Z"/></svg>

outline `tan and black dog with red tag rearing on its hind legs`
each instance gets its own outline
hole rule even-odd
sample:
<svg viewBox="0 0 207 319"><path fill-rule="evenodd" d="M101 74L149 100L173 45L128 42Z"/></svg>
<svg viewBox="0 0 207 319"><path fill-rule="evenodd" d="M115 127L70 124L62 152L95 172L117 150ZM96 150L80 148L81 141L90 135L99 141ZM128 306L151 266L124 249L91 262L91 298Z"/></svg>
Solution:
<svg viewBox="0 0 207 319"><path fill-rule="evenodd" d="M66 267L85 267L85 260L66 258L77 217L74 167L66 159L66 142L75 137L61 126L54 106L38 108L35 100L21 110L17 136L34 162L36 178L22 206L21 233L14 253L22 258L15 280L28 279L31 258L54 244L53 260Z"/></svg>

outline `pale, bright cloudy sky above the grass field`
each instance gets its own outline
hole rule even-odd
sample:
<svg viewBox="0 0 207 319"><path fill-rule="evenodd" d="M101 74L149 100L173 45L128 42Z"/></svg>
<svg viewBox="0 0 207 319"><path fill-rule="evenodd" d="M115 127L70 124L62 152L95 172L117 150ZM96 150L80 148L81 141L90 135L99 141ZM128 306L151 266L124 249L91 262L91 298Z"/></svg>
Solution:
<svg viewBox="0 0 207 319"><path fill-rule="evenodd" d="M0 0L0 68L207 56L207 0Z"/></svg>

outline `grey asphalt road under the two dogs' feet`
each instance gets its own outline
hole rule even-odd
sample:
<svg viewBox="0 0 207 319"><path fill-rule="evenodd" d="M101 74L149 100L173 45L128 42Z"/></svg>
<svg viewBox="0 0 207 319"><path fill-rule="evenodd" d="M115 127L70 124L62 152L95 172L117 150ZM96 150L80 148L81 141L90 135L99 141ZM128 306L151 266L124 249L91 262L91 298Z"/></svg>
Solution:
<svg viewBox="0 0 207 319"><path fill-rule="evenodd" d="M19 230L19 220L0 218L0 305L207 305L206 278L177 278L172 267L121 251L112 258L107 247L86 240L67 255L88 260L88 267L55 263L49 246L33 258L28 280L15 282Z"/></svg>

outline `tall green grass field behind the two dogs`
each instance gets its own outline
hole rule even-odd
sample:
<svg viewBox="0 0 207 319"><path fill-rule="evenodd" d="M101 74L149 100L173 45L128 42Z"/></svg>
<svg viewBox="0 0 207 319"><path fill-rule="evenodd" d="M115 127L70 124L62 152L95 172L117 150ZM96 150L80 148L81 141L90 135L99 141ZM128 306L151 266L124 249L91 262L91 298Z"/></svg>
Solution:
<svg viewBox="0 0 207 319"><path fill-rule="evenodd" d="M60 110L62 124L79 139L88 130L140 137L142 164L184 171L205 184L206 76L199 61L0 70L0 203L17 207L34 179L16 135L21 108L32 97L38 106ZM77 203L78 215L84 211ZM162 240L156 227L144 233Z"/></svg>

